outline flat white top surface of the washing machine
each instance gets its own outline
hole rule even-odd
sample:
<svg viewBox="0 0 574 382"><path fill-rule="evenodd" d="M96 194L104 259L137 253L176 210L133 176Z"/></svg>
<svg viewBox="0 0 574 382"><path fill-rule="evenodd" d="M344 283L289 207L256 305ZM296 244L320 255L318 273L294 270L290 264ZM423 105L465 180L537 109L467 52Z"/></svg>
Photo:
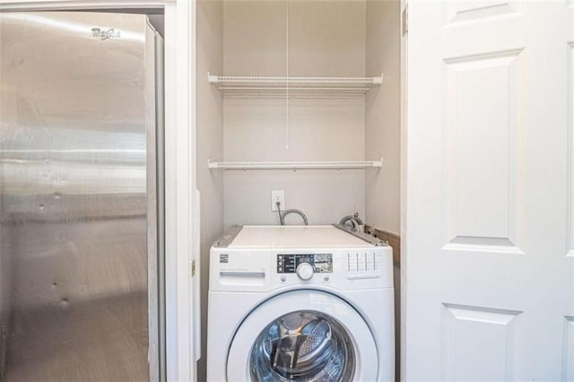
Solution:
<svg viewBox="0 0 574 382"><path fill-rule="evenodd" d="M374 247L331 225L243 226L230 243L241 247Z"/></svg>

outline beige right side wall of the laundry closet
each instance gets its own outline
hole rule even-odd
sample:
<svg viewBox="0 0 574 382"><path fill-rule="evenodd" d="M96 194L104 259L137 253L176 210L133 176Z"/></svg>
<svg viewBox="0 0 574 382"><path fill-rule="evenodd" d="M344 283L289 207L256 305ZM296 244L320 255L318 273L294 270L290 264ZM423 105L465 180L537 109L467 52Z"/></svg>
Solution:
<svg viewBox="0 0 574 382"><path fill-rule="evenodd" d="M384 74L383 85L365 99L365 155L383 158L380 172L367 173L366 219L378 230L400 234L400 3L367 2L366 75Z"/></svg>

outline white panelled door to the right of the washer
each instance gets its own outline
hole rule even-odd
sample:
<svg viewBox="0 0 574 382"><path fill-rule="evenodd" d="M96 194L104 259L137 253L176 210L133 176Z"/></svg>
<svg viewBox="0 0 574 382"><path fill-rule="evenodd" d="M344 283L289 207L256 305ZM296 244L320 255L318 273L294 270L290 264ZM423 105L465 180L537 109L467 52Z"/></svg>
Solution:
<svg viewBox="0 0 574 382"><path fill-rule="evenodd" d="M409 1L405 380L574 380L574 2Z"/></svg>

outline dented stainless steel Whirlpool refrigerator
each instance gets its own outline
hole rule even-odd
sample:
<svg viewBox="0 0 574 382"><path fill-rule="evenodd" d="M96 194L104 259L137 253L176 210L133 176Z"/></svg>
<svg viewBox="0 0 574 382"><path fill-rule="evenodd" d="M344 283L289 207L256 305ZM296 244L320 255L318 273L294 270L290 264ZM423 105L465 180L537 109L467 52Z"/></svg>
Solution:
<svg viewBox="0 0 574 382"><path fill-rule="evenodd" d="M0 13L0 380L164 364L162 45L145 15Z"/></svg>

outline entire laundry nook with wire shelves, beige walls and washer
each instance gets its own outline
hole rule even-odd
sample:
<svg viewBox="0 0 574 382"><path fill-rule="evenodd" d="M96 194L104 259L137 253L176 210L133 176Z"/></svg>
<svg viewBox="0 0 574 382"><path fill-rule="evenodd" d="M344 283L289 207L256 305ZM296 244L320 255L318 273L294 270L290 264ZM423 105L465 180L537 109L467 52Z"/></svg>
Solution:
<svg viewBox="0 0 574 382"><path fill-rule="evenodd" d="M198 4L207 380L395 378L399 5Z"/></svg>

